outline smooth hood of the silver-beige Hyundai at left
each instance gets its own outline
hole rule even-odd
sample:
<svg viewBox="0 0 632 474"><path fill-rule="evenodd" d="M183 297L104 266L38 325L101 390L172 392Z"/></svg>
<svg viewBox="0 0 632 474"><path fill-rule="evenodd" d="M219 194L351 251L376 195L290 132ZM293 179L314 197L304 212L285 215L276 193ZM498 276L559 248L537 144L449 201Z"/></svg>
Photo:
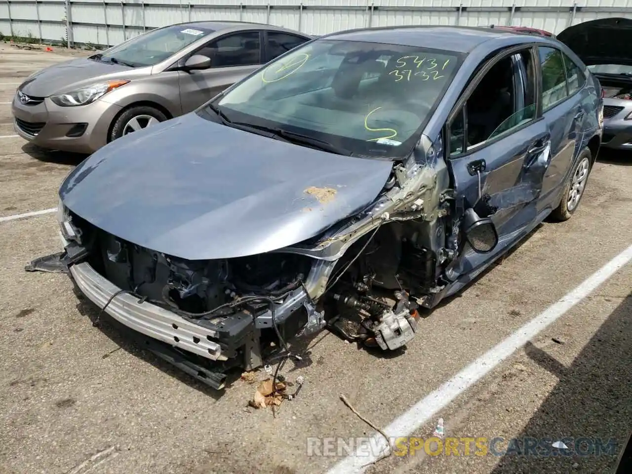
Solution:
<svg viewBox="0 0 632 474"><path fill-rule="evenodd" d="M102 76L116 76L121 71L132 69L121 64L102 63L87 58L71 59L42 69L21 83L18 89L33 97L48 97L68 90L75 83L82 83L88 79L106 80L109 77Z"/></svg>

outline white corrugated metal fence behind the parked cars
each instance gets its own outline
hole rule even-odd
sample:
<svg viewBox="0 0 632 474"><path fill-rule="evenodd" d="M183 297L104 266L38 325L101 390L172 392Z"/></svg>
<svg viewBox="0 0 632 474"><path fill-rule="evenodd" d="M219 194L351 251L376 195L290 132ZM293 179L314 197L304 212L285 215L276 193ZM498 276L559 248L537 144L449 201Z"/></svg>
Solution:
<svg viewBox="0 0 632 474"><path fill-rule="evenodd" d="M272 23L312 34L387 25L523 25L559 33L605 16L632 18L632 0L0 0L0 33L112 45L188 20Z"/></svg>

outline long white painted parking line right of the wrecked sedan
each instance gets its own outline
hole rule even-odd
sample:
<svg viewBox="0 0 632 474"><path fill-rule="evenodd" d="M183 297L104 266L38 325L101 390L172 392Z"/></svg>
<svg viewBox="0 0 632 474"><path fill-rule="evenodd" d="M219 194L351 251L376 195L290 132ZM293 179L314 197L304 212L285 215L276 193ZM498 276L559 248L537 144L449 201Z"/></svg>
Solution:
<svg viewBox="0 0 632 474"><path fill-rule="evenodd" d="M524 346L530 339L535 337L538 332L545 329L545 327L556 321L561 315L592 293L600 284L604 283L630 260L632 260L632 245L612 258L610 262L593 273L592 276L588 277L588 279L568 293L568 295L550 305L550 307L545 309L544 312L540 313L535 319L523 325L518 331L511 334L511 336L480 356L477 360L461 370L461 372L447 380L441 387L411 406L403 415L396 418L388 427L384 428L384 433L389 436L392 441L397 437L412 434L417 428L423 425L423 423L430 420L439 410L445 408L447 404L463 394L463 392L487 375L499 363L511 356L516 349ZM380 434L375 434L370 439L370 446L362 449L362 454L366 454L358 455L358 451L356 451L354 454L339 461L339 463L328 471L328 474L363 472L365 469L363 466L378 459L380 452L387 453L386 449L386 439Z"/></svg>

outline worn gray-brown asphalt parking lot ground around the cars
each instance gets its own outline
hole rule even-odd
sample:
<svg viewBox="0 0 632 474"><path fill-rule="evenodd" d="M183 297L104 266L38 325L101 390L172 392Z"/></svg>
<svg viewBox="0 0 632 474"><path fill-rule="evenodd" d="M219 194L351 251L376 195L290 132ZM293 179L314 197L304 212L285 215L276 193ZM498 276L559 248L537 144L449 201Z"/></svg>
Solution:
<svg viewBox="0 0 632 474"><path fill-rule="evenodd" d="M76 54L85 53L0 44L0 102L10 102L32 71ZM10 105L0 104L0 218L54 208L61 180L83 156L43 152L10 135ZM54 213L0 219L0 473L334 471L348 460L344 446L375 432L341 394L378 427L403 420L394 426L408 428L389 435L411 435L408 443L422 446L414 455L404 446L398 453L406 456L394 453L368 472L608 473L618 447L581 456L574 442L623 442L632 429L632 265L616 272L611 265L604 283L580 287L576 305L554 307L550 325L499 356L489 372L475 370L469 388L450 380L550 315L550 305L566 304L569 292L631 245L631 165L632 154L602 152L573 218L539 226L421 320L402 353L369 353L319 334L301 365L286 365L288 380L303 375L306 382L274 415L248 408L255 385L236 380L218 395L108 320L93 327L97 308L75 295L67 276L25 272L33 258L60 249ZM415 404L420 410L409 411ZM458 456L423 447L439 417L444 441L457 439ZM488 447L500 441L482 456L474 444L466 454L463 437L483 438ZM565 439L571 449L502 455L508 440L525 438L542 446Z"/></svg>

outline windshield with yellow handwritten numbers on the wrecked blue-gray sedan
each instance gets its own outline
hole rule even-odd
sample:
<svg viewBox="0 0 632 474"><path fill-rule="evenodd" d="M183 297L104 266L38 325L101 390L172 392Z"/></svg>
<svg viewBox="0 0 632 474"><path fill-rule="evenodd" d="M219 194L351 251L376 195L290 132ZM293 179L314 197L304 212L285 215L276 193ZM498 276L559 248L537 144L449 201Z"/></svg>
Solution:
<svg viewBox="0 0 632 474"><path fill-rule="evenodd" d="M209 107L234 123L318 140L341 154L402 157L463 60L458 52L315 40L267 64ZM202 109L204 110L204 109ZM204 115L203 115L204 116Z"/></svg>

